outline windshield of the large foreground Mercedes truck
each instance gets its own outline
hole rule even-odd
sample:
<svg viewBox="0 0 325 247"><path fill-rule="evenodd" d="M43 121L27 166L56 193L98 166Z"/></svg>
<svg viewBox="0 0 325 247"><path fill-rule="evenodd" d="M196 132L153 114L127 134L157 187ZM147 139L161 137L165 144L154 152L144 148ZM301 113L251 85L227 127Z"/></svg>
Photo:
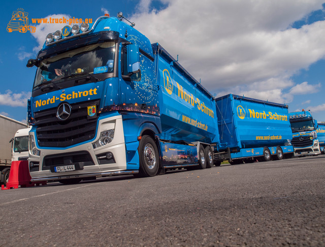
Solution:
<svg viewBox="0 0 325 247"><path fill-rule="evenodd" d="M34 88L72 76L97 72L113 72L115 42L94 44L61 53L40 61Z"/></svg>

